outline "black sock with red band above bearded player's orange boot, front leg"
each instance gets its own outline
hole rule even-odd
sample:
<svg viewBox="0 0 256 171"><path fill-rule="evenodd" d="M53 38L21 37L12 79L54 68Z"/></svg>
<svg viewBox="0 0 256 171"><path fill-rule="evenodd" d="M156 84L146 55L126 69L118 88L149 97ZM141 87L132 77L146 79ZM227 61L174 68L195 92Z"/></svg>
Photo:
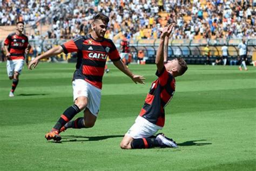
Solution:
<svg viewBox="0 0 256 171"><path fill-rule="evenodd" d="M80 109L77 105L70 106L65 110L65 112L60 116L56 125L53 129L57 129L59 131L67 122L69 122L77 113L80 112Z"/></svg>

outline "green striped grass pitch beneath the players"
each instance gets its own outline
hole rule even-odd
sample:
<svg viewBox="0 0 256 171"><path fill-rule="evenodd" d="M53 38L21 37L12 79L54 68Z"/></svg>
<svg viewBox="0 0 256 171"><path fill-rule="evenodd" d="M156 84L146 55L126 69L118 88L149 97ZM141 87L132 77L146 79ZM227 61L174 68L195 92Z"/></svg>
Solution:
<svg viewBox="0 0 256 171"><path fill-rule="evenodd" d="M61 143L44 134L73 104L75 64L24 69L14 98L8 97L5 65L0 63L0 170L256 170L254 67L190 65L176 79L163 129L179 148L122 150L119 143L156 79L155 65L130 66L145 76L145 85L110 65L95 127L68 129Z"/></svg>

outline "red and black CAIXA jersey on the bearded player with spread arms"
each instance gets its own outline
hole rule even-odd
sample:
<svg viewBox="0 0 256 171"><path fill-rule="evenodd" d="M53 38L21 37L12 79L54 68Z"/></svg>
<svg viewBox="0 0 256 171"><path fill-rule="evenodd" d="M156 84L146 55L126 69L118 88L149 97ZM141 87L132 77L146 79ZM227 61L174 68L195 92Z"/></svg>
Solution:
<svg viewBox="0 0 256 171"><path fill-rule="evenodd" d="M96 41L91 35L79 36L61 45L64 53L77 52L74 79L84 79L90 84L102 88L102 78L106 59L120 60L116 46L110 39Z"/></svg>

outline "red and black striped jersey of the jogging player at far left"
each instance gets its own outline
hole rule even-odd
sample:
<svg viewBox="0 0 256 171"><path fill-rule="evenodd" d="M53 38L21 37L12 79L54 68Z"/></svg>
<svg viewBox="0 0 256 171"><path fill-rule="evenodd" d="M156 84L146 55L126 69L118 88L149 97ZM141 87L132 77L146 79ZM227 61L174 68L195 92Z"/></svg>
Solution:
<svg viewBox="0 0 256 171"><path fill-rule="evenodd" d="M29 45L29 39L25 35L16 35L11 33L4 41L4 45L8 46L8 51L11 53L11 60L25 59L25 49Z"/></svg>

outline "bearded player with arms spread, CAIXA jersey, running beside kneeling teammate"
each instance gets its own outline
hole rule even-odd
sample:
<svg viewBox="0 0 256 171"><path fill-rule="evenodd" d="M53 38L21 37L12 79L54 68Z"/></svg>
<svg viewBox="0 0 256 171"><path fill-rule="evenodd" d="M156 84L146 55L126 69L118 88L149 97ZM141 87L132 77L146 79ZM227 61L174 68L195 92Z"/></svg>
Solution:
<svg viewBox="0 0 256 171"><path fill-rule="evenodd" d="M72 81L75 104L64 111L51 132L45 135L47 140L61 140L59 133L67 128L90 128L95 125L99 113L102 78L107 57L134 83L144 84L145 78L132 74L120 60L112 40L104 38L107 23L109 23L109 17L99 13L93 19L90 35L79 36L63 45L54 47L30 62L29 69L33 69L42 58L49 58L62 52L77 52L78 55ZM82 110L84 110L84 117L71 121Z"/></svg>

